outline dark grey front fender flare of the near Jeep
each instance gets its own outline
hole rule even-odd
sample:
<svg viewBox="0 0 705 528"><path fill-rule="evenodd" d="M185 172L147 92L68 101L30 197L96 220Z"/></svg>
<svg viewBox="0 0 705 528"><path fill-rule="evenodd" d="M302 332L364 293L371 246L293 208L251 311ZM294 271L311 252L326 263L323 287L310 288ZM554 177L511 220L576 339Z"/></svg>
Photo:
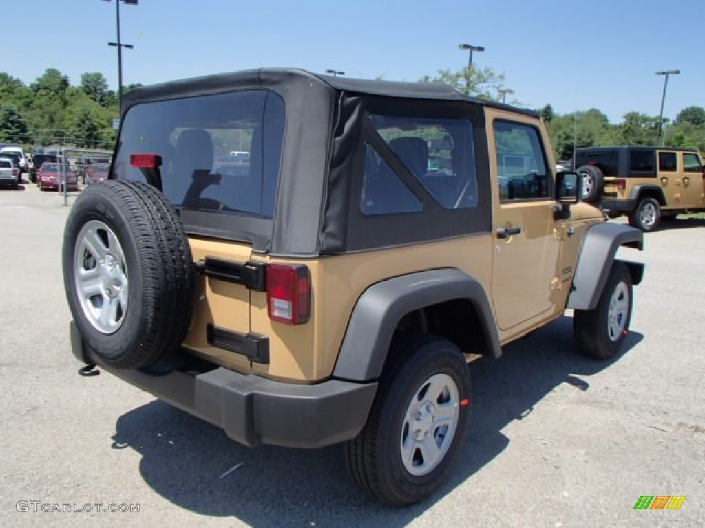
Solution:
<svg viewBox="0 0 705 528"><path fill-rule="evenodd" d="M634 227L611 223L588 227L577 259L567 308L592 310L597 306L620 246L643 250L644 233ZM639 284L644 277L644 264L627 261L625 264L632 282Z"/></svg>

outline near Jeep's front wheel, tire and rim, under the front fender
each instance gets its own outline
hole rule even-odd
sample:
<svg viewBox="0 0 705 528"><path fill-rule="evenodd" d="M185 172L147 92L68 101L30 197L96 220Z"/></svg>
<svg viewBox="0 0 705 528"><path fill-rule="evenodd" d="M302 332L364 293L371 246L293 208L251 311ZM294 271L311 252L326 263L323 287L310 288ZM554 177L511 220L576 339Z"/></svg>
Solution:
<svg viewBox="0 0 705 528"><path fill-rule="evenodd" d="M591 358L615 355L624 343L632 320L632 275L615 262L593 310L575 310L573 332L580 351Z"/></svg>

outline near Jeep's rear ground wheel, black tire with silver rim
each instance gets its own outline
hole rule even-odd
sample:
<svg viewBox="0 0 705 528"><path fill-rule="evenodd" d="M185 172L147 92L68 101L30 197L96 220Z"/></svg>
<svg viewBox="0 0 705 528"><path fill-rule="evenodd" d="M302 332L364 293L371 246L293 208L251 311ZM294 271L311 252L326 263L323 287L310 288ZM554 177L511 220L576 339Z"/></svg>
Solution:
<svg viewBox="0 0 705 528"><path fill-rule="evenodd" d="M355 482L380 501L431 495L458 453L470 412L470 369L440 337L395 339L367 425L345 445Z"/></svg>

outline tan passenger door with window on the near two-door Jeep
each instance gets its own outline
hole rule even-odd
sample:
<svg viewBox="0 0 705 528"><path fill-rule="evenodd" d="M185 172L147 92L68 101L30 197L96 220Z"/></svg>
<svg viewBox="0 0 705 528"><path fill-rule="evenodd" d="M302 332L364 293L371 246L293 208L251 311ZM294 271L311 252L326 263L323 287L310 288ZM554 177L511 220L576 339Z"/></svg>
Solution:
<svg viewBox="0 0 705 528"><path fill-rule="evenodd" d="M551 317L558 301L552 156L536 118L491 108L486 116L495 182L492 301L498 327L518 333Z"/></svg>

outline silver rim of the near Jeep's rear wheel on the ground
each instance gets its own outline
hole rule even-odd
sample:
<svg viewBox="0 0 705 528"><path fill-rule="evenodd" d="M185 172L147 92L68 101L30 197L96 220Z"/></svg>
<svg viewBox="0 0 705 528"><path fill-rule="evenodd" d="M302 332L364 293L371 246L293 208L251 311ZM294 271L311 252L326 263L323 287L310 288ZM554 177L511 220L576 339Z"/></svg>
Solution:
<svg viewBox="0 0 705 528"><path fill-rule="evenodd" d="M435 374L410 401L399 446L404 467L415 477L429 474L448 453L460 419L458 394L452 377Z"/></svg>

